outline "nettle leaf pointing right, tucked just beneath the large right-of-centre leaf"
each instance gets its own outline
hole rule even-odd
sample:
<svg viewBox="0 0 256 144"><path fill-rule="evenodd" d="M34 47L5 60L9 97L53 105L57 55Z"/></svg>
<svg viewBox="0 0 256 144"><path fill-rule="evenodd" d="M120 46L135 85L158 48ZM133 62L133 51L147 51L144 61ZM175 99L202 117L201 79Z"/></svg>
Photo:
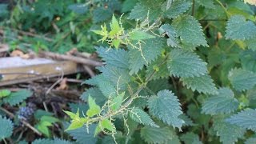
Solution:
<svg viewBox="0 0 256 144"><path fill-rule="evenodd" d="M183 86L191 88L191 90L197 90L203 94L217 94L217 88L214 84L214 80L210 78L210 75L201 75L199 77L181 78Z"/></svg>

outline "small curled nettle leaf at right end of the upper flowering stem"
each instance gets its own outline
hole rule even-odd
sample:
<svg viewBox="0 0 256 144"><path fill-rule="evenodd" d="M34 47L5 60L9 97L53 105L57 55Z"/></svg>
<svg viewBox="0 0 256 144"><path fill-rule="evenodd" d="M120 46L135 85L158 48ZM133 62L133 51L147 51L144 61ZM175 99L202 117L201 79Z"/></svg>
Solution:
<svg viewBox="0 0 256 144"><path fill-rule="evenodd" d="M164 24L159 28L160 34L167 34L169 38L167 38L167 46L179 47L178 46L178 34L173 26L169 24Z"/></svg>

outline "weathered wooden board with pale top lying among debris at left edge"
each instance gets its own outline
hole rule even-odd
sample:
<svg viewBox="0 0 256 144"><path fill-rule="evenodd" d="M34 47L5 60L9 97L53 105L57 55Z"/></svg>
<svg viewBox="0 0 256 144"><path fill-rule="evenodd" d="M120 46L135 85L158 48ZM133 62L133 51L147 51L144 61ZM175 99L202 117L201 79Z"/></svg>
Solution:
<svg viewBox="0 0 256 144"><path fill-rule="evenodd" d="M78 64L76 62L57 62L46 58L0 58L0 76L2 76L0 86L77 72Z"/></svg>

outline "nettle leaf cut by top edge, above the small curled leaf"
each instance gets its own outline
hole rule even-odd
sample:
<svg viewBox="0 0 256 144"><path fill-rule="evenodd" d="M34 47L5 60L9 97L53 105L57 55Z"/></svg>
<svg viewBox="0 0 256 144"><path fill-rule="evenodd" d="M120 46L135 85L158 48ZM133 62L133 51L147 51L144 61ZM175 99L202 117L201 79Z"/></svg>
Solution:
<svg viewBox="0 0 256 144"><path fill-rule="evenodd" d="M164 16L167 18L177 18L179 15L189 10L191 2L186 0L174 1L170 4L170 8L164 12Z"/></svg>

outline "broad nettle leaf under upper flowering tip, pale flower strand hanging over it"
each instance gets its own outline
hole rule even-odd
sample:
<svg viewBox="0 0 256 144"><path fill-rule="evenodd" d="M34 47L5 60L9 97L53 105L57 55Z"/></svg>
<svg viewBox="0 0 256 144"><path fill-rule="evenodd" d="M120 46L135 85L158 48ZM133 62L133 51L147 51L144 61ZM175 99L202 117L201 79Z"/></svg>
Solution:
<svg viewBox="0 0 256 144"><path fill-rule="evenodd" d="M143 40L141 47L130 48L130 74L137 74L143 66L154 61L161 54L164 42L163 38L151 38Z"/></svg>

